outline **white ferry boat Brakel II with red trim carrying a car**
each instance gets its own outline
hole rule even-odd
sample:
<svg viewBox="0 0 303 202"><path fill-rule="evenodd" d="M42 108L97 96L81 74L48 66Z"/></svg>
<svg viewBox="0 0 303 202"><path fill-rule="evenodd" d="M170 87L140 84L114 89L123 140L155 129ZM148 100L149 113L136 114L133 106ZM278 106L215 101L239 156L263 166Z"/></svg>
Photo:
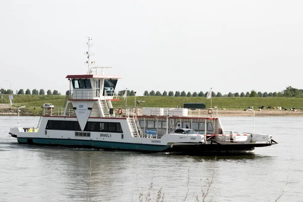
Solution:
<svg viewBox="0 0 303 202"><path fill-rule="evenodd" d="M267 134L224 131L213 109L206 116L184 108L142 108L141 113L136 108L114 109L121 76L106 75L105 67L101 74L96 67L88 65L88 70L66 76L70 90L61 115L43 108L37 127L12 127L9 134L21 144L193 155L250 151L277 143Z"/></svg>

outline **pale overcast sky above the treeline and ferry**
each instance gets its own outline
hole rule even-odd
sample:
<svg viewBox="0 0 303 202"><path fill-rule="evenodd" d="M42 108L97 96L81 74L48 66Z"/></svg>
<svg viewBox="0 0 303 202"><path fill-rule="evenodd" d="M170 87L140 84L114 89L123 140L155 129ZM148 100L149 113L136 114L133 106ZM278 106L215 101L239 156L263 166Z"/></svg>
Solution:
<svg viewBox="0 0 303 202"><path fill-rule="evenodd" d="M0 87L69 89L91 60L117 89L303 88L303 1L1 1Z"/></svg>

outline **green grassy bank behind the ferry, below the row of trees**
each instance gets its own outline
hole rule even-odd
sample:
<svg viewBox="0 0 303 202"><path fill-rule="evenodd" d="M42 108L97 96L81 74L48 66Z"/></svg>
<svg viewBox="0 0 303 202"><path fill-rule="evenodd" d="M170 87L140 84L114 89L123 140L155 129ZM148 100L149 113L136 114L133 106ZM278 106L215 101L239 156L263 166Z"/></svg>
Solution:
<svg viewBox="0 0 303 202"><path fill-rule="evenodd" d="M40 112L44 103L52 103L56 108L64 107L65 95L14 95L13 106L19 107L25 105L31 112ZM158 97L158 96L136 96L136 100L145 101L136 104L137 108L142 107L183 107L183 103L205 103L207 108L211 106L211 99L206 97ZM1 101L1 100L0 100ZM127 97L127 106L134 107L134 96ZM125 102L122 97L120 101L112 102L114 108L125 108ZM3 102L9 103L8 95L4 95ZM212 105L219 109L227 110L245 109L249 106L258 108L266 107L284 107L284 108L303 108L303 98L296 97L213 97Z"/></svg>

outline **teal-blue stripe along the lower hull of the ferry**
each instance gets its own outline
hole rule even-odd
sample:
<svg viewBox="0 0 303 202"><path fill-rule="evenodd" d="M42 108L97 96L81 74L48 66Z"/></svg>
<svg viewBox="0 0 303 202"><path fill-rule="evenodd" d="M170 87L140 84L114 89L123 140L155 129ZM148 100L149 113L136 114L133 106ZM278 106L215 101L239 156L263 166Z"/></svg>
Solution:
<svg viewBox="0 0 303 202"><path fill-rule="evenodd" d="M48 145L48 146L86 147L86 148L137 150L137 151L151 151L151 152L165 151L170 148L170 145L153 145L153 144L77 140L77 139L51 139L51 138L26 138L26 137L18 137L17 139L19 143Z"/></svg>

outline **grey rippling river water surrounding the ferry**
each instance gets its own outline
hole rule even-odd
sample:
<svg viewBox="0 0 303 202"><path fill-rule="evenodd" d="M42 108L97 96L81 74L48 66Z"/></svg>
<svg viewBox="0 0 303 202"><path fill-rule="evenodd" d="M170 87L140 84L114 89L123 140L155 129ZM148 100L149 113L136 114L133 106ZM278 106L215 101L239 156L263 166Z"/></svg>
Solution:
<svg viewBox="0 0 303 202"><path fill-rule="evenodd" d="M20 117L34 126L39 117ZM251 117L222 117L225 131L251 132ZM257 117L277 145L241 156L197 157L21 145L18 117L0 117L0 201L303 201L303 117ZM151 184L152 183L152 184ZM150 185L152 185L151 188ZM188 193L187 193L188 192Z"/></svg>

